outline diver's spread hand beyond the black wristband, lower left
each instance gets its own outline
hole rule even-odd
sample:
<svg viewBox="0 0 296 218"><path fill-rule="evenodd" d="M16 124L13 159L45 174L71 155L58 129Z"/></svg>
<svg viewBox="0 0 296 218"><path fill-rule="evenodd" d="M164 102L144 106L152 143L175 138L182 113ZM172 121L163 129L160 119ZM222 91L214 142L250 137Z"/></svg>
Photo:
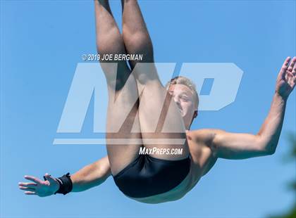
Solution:
<svg viewBox="0 0 296 218"><path fill-rule="evenodd" d="M58 181L49 174L45 174L44 177L47 179L46 181L42 181L41 179L32 176L25 176L25 179L33 182L19 182L18 187L24 190L26 195L38 195L39 197L53 195L58 191Z"/></svg>

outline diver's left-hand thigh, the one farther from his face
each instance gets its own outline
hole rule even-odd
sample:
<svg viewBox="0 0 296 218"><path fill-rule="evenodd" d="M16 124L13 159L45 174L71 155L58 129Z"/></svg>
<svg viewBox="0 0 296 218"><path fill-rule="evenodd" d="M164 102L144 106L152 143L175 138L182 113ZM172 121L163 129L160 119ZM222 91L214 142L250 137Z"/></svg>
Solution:
<svg viewBox="0 0 296 218"><path fill-rule="evenodd" d="M130 70L118 65L118 73L128 75ZM109 84L113 83L109 81ZM135 78L130 74L121 89L116 90L115 87L109 86L108 92L106 148L111 172L115 175L137 158L142 146L140 122L137 115L139 101Z"/></svg>

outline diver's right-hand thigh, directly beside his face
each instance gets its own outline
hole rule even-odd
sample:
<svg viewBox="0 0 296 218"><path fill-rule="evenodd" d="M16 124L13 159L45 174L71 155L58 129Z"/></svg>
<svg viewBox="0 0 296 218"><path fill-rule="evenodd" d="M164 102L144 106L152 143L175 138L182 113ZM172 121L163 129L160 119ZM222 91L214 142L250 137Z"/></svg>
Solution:
<svg viewBox="0 0 296 218"><path fill-rule="evenodd" d="M182 160L189 155L183 118L159 82L145 84L139 114L142 141L154 158Z"/></svg>

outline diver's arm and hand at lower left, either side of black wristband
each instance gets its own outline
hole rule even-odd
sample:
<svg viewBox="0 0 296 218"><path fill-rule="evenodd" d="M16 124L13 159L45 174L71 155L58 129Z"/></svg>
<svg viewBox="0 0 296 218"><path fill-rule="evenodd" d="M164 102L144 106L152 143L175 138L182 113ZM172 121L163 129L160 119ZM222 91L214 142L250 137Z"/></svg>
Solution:
<svg viewBox="0 0 296 218"><path fill-rule="evenodd" d="M110 175L109 159L106 156L70 175L73 183L72 192L85 191L94 186L99 186ZM32 182L20 182L18 186L25 191L26 195L38 195L39 197L54 195L59 188L58 181L49 174L45 174L44 177L47 179L46 181L37 177L25 176L25 179Z"/></svg>

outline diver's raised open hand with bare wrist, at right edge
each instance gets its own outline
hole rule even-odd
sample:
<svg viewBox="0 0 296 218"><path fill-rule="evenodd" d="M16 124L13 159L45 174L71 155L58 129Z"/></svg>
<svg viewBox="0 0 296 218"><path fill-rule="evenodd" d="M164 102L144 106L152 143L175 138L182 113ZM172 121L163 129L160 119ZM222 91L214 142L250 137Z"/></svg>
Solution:
<svg viewBox="0 0 296 218"><path fill-rule="evenodd" d="M285 59L276 79L276 94L284 99L288 98L296 83L296 57L292 58L291 62L290 60L290 57Z"/></svg>

